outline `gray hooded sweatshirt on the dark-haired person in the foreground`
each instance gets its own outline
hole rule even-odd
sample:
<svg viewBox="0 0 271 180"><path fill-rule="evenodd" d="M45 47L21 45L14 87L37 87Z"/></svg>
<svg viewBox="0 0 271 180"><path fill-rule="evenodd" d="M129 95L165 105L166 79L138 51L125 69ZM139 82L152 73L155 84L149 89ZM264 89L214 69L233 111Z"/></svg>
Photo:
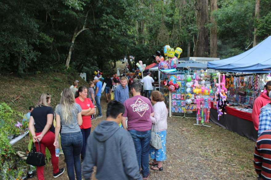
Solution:
<svg viewBox="0 0 271 180"><path fill-rule="evenodd" d="M91 178L93 166L97 166L98 180L142 179L133 139L113 121L99 123L87 139L83 162L85 179Z"/></svg>

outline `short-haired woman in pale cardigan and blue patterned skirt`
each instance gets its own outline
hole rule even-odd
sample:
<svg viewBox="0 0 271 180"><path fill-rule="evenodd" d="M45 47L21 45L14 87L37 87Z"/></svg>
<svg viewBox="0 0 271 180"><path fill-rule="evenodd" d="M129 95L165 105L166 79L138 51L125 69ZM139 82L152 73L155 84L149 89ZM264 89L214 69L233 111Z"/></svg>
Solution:
<svg viewBox="0 0 271 180"><path fill-rule="evenodd" d="M164 97L159 91L153 91L151 93L151 102L154 104L154 116L151 116L153 131L157 131L162 140L162 148L155 149L150 147L150 156L153 159L153 162L149 164L152 165L152 170L163 170L162 161L164 161L166 156L166 136L167 136L167 118L168 118L168 109L164 103Z"/></svg>

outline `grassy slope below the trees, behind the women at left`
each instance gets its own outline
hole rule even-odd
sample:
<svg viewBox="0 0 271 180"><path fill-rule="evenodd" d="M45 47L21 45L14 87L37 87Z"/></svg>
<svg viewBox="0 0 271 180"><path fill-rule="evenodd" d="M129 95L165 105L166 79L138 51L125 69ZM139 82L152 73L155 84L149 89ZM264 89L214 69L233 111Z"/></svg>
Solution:
<svg viewBox="0 0 271 180"><path fill-rule="evenodd" d="M62 90L69 88L74 80L79 80L79 86L88 87L88 83L81 77L61 73L31 75L23 79L15 76L2 76L1 79L0 102L5 102L12 109L23 113L27 112L29 106L37 103L41 93L52 95L51 106L54 108L60 100ZM14 101L18 96L20 96L18 100Z"/></svg>

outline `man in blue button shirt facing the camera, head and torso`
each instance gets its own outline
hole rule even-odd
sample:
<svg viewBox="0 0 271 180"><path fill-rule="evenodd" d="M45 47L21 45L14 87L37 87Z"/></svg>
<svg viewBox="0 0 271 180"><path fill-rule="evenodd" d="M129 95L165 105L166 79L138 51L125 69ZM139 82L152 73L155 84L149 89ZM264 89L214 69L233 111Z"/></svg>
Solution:
<svg viewBox="0 0 271 180"><path fill-rule="evenodd" d="M117 86L114 92L115 100L124 103L125 100L129 99L129 88L127 86L127 77L122 76L120 78L120 86Z"/></svg>

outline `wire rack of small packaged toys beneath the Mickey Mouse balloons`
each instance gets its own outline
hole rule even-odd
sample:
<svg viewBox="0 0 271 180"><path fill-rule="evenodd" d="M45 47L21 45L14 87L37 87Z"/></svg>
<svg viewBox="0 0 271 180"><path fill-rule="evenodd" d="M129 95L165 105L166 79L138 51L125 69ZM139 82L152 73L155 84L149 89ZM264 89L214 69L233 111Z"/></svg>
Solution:
<svg viewBox="0 0 271 180"><path fill-rule="evenodd" d="M175 74L176 83L179 85L178 89L171 92L171 114L173 116L184 117L185 109L185 100L186 100L186 74L184 72L178 72ZM171 76L169 76L170 78Z"/></svg>

